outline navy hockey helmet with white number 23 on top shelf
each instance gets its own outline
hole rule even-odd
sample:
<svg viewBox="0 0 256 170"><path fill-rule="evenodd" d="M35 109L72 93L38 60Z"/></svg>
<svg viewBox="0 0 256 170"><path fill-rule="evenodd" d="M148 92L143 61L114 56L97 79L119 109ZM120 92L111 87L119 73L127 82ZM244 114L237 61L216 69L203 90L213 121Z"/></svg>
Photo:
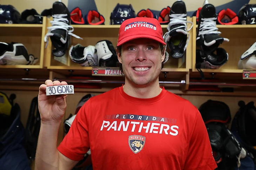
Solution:
<svg viewBox="0 0 256 170"><path fill-rule="evenodd" d="M136 14L133 9L133 6L130 5L120 5L117 3L116 7L114 8L113 12L110 15L110 24L111 25L119 25L123 21L135 18Z"/></svg>

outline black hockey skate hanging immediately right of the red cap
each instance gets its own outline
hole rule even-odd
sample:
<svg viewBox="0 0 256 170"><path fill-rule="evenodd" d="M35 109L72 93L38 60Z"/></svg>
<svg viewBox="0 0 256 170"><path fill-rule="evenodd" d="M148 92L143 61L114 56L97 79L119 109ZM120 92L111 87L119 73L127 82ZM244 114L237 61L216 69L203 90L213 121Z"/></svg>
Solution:
<svg viewBox="0 0 256 170"><path fill-rule="evenodd" d="M187 30L187 22L191 27ZM171 50L170 56L181 58L187 49L189 42L188 31L193 27L193 22L187 21L187 9L183 1L173 3L169 14L168 32L163 36L166 44ZM187 36L188 35L188 36Z"/></svg>

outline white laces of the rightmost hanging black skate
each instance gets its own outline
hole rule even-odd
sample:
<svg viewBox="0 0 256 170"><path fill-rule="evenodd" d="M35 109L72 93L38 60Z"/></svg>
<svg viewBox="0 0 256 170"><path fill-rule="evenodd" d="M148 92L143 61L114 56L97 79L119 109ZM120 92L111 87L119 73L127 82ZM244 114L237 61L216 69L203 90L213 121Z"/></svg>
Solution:
<svg viewBox="0 0 256 170"><path fill-rule="evenodd" d="M213 18L202 18L200 23L200 28L198 31L198 36L206 34L221 34L216 27L216 17Z"/></svg>

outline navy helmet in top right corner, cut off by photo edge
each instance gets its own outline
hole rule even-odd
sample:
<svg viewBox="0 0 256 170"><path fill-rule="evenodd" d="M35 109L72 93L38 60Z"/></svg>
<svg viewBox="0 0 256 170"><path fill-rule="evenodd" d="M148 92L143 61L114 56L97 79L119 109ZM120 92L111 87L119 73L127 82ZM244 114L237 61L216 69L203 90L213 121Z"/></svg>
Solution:
<svg viewBox="0 0 256 170"><path fill-rule="evenodd" d="M240 24L256 24L256 4L246 4L242 6L237 16Z"/></svg>

